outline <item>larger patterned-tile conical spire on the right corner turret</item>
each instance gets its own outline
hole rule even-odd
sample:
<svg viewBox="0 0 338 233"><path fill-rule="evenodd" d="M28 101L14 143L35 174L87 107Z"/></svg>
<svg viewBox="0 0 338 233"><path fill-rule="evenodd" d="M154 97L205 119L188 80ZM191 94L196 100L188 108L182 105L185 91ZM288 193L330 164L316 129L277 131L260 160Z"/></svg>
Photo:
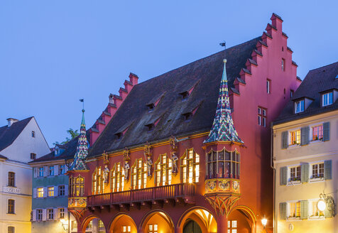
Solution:
<svg viewBox="0 0 338 233"><path fill-rule="evenodd" d="M224 68L221 80L221 86L219 87L219 97L217 102L216 115L214 116L214 123L212 124L212 130L209 133L204 143L214 141L232 141L237 143L244 143L239 138L236 129L234 127L234 121L231 118L231 109L228 94L228 80L226 63L227 60L223 60Z"/></svg>

